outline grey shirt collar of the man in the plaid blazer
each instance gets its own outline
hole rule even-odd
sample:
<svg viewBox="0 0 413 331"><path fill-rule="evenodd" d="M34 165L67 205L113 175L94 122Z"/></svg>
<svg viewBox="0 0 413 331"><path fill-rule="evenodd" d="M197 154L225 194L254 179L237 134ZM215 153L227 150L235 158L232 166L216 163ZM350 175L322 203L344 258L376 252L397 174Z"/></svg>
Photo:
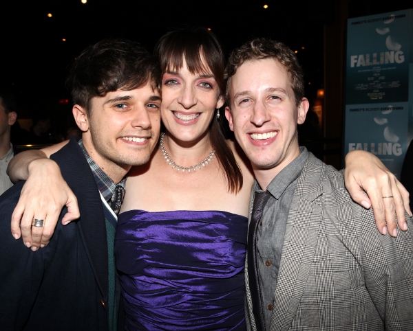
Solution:
<svg viewBox="0 0 413 331"><path fill-rule="evenodd" d="M306 165L308 159L308 150L305 147L300 147L300 154L298 157L293 159L283 170L281 170L277 176L271 181L267 186L268 192L274 196L274 198L279 199L282 196L286 188L293 183L301 174L304 165ZM260 192L260 184L255 180L254 190Z"/></svg>

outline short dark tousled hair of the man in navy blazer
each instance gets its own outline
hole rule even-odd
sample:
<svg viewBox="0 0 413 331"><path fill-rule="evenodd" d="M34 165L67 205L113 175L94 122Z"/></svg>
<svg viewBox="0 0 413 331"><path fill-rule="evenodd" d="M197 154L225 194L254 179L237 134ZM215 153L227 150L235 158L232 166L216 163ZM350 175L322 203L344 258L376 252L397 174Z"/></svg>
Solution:
<svg viewBox="0 0 413 331"><path fill-rule="evenodd" d="M72 101L90 115L90 100L118 89L130 91L151 82L158 89L156 58L134 41L107 39L87 47L76 59L67 78Z"/></svg>

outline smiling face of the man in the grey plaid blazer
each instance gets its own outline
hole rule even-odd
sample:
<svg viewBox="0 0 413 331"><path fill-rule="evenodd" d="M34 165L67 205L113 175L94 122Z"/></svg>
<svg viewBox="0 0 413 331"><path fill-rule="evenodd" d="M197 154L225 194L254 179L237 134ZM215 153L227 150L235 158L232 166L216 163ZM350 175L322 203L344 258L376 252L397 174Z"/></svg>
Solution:
<svg viewBox="0 0 413 331"><path fill-rule="evenodd" d="M230 84L226 117L238 144L254 171L276 175L299 155L297 123L304 123L308 100L297 106L290 73L273 58L244 62Z"/></svg>

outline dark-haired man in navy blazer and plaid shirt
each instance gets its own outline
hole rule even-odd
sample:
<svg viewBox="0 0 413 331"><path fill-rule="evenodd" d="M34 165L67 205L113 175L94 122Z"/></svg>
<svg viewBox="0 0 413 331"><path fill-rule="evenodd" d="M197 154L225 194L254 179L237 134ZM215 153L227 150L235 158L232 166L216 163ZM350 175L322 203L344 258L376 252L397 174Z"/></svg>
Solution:
<svg viewBox="0 0 413 331"><path fill-rule="evenodd" d="M63 226L64 208L50 244L34 253L10 236L23 182L1 196L1 330L116 330L117 213L125 175L149 160L158 141L159 77L156 59L131 41L102 41L78 56L69 82L82 139L72 138L50 159L74 192L81 218ZM39 215L33 228L47 223Z"/></svg>

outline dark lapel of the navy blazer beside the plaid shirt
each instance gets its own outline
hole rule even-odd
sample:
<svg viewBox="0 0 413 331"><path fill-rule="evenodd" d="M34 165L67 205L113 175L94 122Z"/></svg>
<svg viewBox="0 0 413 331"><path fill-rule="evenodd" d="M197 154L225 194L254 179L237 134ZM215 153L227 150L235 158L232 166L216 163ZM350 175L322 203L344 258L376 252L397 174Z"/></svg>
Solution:
<svg viewBox="0 0 413 331"><path fill-rule="evenodd" d="M59 164L63 178L78 199L81 211L78 229L100 292L107 299L109 285L105 216L92 170L74 138L50 159Z"/></svg>

